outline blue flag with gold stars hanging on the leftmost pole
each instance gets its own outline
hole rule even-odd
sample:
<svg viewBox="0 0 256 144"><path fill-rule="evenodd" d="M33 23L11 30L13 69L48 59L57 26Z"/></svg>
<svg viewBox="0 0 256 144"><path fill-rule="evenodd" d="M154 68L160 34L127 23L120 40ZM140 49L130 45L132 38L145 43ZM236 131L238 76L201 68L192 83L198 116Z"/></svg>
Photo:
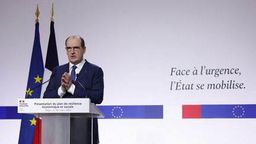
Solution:
<svg viewBox="0 0 256 144"><path fill-rule="evenodd" d="M41 53L39 23L36 23L33 51L31 55L30 71L25 98L40 98L43 82L44 65ZM36 117L32 114L23 114L21 119L19 144L33 144L34 132L36 129Z"/></svg>

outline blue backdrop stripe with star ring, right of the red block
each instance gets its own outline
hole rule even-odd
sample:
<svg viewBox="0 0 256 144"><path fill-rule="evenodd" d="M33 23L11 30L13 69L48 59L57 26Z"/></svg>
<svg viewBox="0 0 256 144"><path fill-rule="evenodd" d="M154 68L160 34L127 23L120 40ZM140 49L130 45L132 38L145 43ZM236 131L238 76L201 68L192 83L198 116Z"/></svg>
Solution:
<svg viewBox="0 0 256 144"><path fill-rule="evenodd" d="M255 119L256 104L201 105L201 119Z"/></svg>

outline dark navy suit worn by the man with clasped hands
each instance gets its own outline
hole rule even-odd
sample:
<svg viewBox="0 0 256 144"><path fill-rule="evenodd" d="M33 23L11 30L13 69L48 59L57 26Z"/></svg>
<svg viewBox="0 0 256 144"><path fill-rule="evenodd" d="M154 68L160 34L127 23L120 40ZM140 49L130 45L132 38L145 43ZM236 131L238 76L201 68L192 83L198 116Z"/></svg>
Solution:
<svg viewBox="0 0 256 144"><path fill-rule="evenodd" d="M57 94L57 89L61 85L61 78L64 72L69 72L69 63L57 66L53 69L51 79L44 92L43 98L60 98ZM85 88L78 83L78 81ZM62 98L90 98L91 103L101 104L103 101L103 70L85 60L78 77L76 78L75 91L73 95L66 92ZM94 119L94 143L98 141L98 121ZM87 135L83 134L87 133ZM71 120L71 143L91 143L91 119L72 119ZM88 141L89 139L89 141Z"/></svg>

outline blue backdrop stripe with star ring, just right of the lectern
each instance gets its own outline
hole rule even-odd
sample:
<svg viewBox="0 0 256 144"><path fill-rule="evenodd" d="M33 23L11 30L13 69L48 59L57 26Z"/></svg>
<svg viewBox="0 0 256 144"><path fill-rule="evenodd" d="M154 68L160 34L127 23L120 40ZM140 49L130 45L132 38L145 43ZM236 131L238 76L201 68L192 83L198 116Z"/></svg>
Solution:
<svg viewBox="0 0 256 144"><path fill-rule="evenodd" d="M99 105L104 119L163 119L163 105Z"/></svg>

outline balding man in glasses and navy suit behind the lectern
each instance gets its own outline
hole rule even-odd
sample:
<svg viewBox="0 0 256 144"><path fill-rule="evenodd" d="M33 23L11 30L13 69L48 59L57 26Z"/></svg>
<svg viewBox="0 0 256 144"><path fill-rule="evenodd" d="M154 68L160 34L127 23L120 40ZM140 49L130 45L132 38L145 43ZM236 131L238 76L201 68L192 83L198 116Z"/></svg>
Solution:
<svg viewBox="0 0 256 144"><path fill-rule="evenodd" d="M84 39L66 39L69 63L53 69L43 98L90 98L91 103L103 101L103 70L84 59ZM98 121L93 120L93 143L98 140ZM71 119L71 143L91 143L91 119Z"/></svg>

